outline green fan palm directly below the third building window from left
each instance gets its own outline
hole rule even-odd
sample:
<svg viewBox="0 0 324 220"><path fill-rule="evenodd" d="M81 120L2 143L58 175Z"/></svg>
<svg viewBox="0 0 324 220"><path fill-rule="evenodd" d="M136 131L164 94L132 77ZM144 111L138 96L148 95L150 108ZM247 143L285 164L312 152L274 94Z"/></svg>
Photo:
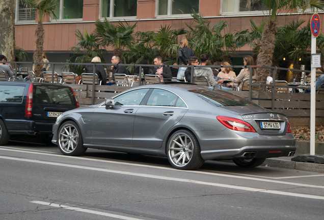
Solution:
<svg viewBox="0 0 324 220"><path fill-rule="evenodd" d="M103 46L113 46L114 55L122 57L124 49L129 48L134 42L134 29L137 26L137 22L134 25L129 25L126 22L124 25L119 22L118 25L113 25L107 19L104 21L96 21L95 35L100 39L100 44Z"/></svg>

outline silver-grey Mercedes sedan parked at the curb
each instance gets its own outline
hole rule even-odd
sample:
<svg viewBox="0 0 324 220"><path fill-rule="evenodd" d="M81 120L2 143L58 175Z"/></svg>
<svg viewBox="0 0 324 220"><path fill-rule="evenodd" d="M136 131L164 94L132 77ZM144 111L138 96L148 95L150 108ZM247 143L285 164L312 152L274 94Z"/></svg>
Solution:
<svg viewBox="0 0 324 220"><path fill-rule="evenodd" d="M52 142L70 156L87 148L167 156L180 170L228 159L257 167L296 150L285 115L223 90L182 83L136 87L64 112Z"/></svg>

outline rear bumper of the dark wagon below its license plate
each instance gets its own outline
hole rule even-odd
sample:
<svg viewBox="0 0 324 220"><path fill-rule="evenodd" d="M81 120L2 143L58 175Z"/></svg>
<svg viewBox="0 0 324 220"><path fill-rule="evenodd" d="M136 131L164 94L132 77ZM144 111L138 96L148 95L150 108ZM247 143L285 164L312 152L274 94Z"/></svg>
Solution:
<svg viewBox="0 0 324 220"><path fill-rule="evenodd" d="M32 120L15 120L15 119L5 119L5 124L7 126L8 132L11 135L14 134L51 134L52 122L35 122Z"/></svg>

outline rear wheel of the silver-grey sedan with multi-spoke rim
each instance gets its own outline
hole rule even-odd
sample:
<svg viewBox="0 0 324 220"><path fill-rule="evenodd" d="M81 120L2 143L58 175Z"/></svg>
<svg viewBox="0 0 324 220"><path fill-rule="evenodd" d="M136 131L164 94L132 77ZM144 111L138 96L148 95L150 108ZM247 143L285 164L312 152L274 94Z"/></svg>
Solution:
<svg viewBox="0 0 324 220"><path fill-rule="evenodd" d="M204 164L197 137L188 130L174 132L168 142L167 155L171 165L179 170L196 170Z"/></svg>

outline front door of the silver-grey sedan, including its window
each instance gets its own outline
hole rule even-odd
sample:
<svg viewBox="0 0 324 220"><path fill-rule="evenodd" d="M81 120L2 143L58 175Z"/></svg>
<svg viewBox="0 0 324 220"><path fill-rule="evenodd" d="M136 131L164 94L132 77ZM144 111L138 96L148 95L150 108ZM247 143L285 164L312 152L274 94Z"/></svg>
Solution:
<svg viewBox="0 0 324 220"><path fill-rule="evenodd" d="M115 105L97 107L91 124L93 144L132 147L133 124L140 103L149 89L132 90L114 98Z"/></svg>

